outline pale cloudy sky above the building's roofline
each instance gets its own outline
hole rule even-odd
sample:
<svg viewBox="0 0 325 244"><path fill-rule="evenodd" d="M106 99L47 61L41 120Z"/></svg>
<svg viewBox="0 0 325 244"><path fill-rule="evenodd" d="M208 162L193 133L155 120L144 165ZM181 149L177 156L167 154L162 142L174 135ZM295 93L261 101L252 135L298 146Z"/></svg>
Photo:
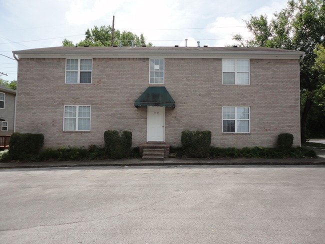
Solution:
<svg viewBox="0 0 325 244"><path fill-rule="evenodd" d="M17 79L13 50L74 44L93 26L143 34L153 46L225 46L249 38L244 20L272 14L287 0L0 0L0 72Z"/></svg>

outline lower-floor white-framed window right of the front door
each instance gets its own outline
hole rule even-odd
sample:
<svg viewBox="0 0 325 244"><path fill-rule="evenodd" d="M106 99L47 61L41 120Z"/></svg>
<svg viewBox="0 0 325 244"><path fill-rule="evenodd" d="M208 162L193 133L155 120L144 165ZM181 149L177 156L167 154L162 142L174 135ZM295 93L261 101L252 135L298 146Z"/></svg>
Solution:
<svg viewBox="0 0 325 244"><path fill-rule="evenodd" d="M249 107L222 107L222 132L249 133Z"/></svg>

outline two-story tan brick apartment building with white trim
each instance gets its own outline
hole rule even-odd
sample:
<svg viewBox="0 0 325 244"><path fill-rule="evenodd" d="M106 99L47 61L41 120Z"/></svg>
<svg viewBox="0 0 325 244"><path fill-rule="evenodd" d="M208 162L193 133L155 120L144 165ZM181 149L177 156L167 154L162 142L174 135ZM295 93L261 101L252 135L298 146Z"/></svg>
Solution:
<svg viewBox="0 0 325 244"><path fill-rule="evenodd" d="M210 130L219 147L300 145L303 52L263 47L49 47L18 59L16 131L45 147L103 145L107 129L132 145L180 145Z"/></svg>

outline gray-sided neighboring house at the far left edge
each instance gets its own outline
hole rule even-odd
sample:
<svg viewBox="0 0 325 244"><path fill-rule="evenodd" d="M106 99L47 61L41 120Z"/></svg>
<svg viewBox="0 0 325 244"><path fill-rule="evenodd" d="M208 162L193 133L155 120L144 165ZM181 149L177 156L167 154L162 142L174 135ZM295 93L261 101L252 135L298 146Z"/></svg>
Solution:
<svg viewBox="0 0 325 244"><path fill-rule="evenodd" d="M0 85L0 136L11 135L14 130L16 91Z"/></svg>

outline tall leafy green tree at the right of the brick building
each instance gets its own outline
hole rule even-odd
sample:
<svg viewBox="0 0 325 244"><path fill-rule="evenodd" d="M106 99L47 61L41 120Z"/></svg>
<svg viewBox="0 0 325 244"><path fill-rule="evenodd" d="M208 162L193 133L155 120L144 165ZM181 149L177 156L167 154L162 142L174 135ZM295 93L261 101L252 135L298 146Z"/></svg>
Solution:
<svg viewBox="0 0 325 244"><path fill-rule="evenodd" d="M308 113L316 104L315 94L319 93L319 88L322 87L319 69L314 68L314 49L318 44L325 43L325 3L323 0L289 0L286 8L273 15L270 21L264 15L251 16L245 21L253 34L247 44L305 52L304 60L300 63L300 122L301 141L304 142ZM241 35L234 37L243 43Z"/></svg>

